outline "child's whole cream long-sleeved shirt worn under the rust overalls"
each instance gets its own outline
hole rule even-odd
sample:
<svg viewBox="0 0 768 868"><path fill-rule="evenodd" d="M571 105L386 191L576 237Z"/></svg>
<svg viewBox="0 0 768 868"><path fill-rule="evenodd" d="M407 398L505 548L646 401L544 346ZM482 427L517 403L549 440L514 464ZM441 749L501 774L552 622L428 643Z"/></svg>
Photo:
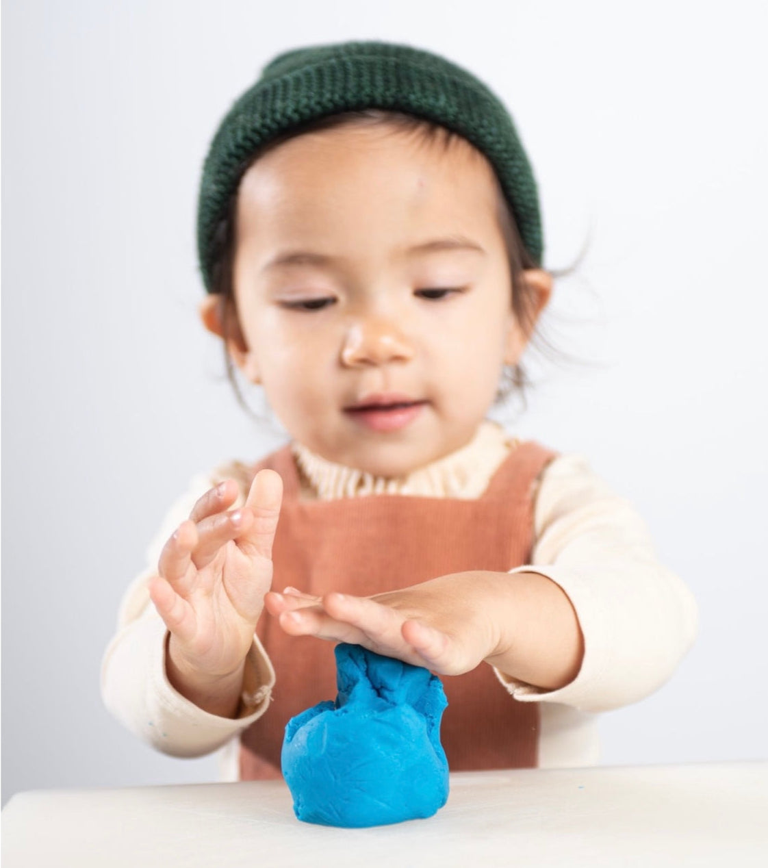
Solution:
<svg viewBox="0 0 768 868"><path fill-rule="evenodd" d="M331 464L298 444L293 448L302 496L387 492L472 498L485 490L514 441L486 422L463 449L395 480ZM102 696L118 720L164 753L200 756L224 747L222 777L235 779L238 736L266 712L275 681L272 663L254 636L243 716L231 720L203 711L167 680L167 629L147 589L167 538L194 502L227 475L225 467L195 477L168 512L148 549L147 569L123 596L117 633L102 661ZM534 534L531 563L510 572L540 573L563 589L579 618L584 659L574 681L558 690L497 675L515 700L542 703L541 767L593 765L595 713L640 700L667 681L693 643L696 604L683 582L656 560L646 526L631 505L609 490L583 457L557 457L543 471Z"/></svg>

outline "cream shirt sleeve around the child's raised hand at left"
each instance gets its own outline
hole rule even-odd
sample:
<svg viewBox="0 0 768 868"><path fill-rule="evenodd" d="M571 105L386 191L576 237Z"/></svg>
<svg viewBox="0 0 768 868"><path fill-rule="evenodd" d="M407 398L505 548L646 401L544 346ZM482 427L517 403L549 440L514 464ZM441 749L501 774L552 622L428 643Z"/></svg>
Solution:
<svg viewBox="0 0 768 868"><path fill-rule="evenodd" d="M218 717L194 705L172 687L166 674L168 631L149 598L162 547L216 478L200 475L165 517L147 551L148 567L123 595L117 632L102 659L102 700L117 720L141 740L180 757L211 753L266 711L275 675L256 635L243 675L245 700L237 719Z"/></svg>

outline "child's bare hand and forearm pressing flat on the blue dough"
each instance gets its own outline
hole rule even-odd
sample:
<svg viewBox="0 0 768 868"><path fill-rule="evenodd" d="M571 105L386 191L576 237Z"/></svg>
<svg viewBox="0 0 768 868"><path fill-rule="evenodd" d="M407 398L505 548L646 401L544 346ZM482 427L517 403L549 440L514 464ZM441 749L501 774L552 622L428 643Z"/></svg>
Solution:
<svg viewBox="0 0 768 868"><path fill-rule="evenodd" d="M472 571L358 597L270 592L266 609L291 635L350 642L443 675L482 661L540 687L573 680L583 653L568 597L542 575Z"/></svg>

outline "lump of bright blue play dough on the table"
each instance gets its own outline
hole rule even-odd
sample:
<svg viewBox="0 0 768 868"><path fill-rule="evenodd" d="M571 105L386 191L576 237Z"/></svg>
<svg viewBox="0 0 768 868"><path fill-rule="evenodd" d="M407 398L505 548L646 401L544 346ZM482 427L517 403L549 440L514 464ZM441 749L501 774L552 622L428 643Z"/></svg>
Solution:
<svg viewBox="0 0 768 868"><path fill-rule="evenodd" d="M338 645L336 667L336 701L286 726L281 762L296 816L347 827L431 817L448 799L440 679L359 645Z"/></svg>

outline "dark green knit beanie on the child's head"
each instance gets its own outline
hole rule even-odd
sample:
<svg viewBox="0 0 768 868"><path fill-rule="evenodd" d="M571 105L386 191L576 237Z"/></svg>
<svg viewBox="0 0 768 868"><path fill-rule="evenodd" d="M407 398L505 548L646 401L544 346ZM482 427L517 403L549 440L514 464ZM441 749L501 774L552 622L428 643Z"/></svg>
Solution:
<svg viewBox="0 0 768 868"><path fill-rule="evenodd" d="M208 292L214 235L253 153L279 135L326 115L390 109L452 130L496 169L517 229L542 262L536 182L502 102L476 76L408 45L351 42L293 49L268 63L221 122L203 167L197 214L200 270Z"/></svg>

